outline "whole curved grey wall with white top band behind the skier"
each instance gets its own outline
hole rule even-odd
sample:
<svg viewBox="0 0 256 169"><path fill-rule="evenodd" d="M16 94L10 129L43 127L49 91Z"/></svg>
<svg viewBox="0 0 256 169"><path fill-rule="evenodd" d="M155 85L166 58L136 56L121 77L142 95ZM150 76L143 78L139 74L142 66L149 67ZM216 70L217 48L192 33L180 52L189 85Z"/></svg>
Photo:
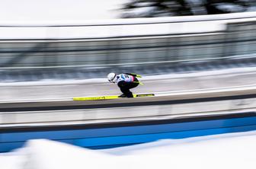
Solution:
<svg viewBox="0 0 256 169"><path fill-rule="evenodd" d="M0 25L0 78L83 79L105 77L106 71L160 75L254 66L255 15Z"/></svg>

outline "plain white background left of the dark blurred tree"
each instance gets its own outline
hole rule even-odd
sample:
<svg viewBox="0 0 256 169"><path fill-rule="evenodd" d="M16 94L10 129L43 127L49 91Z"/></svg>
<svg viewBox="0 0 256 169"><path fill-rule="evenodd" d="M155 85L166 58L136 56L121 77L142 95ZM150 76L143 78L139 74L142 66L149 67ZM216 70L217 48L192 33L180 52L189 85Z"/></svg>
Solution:
<svg viewBox="0 0 256 169"><path fill-rule="evenodd" d="M126 0L1 0L0 21L66 21L119 18Z"/></svg>

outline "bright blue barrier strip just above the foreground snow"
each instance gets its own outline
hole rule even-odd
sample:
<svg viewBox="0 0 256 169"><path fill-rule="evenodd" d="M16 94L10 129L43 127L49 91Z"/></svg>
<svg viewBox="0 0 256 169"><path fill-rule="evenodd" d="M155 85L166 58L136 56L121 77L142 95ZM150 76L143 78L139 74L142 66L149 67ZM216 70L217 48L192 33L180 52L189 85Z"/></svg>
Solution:
<svg viewBox="0 0 256 169"><path fill-rule="evenodd" d="M158 139L183 139L256 129L256 116L185 123L117 126L98 129L59 129L53 131L0 133L0 151L11 151L28 139L52 139L87 148L110 148L154 142Z"/></svg>

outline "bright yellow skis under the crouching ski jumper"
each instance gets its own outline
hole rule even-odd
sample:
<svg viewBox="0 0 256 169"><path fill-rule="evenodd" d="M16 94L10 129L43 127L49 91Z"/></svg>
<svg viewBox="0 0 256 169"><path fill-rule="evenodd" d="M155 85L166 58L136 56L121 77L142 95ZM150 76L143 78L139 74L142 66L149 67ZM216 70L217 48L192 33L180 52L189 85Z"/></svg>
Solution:
<svg viewBox="0 0 256 169"><path fill-rule="evenodd" d="M152 97L155 94L133 94L133 97ZM73 97L75 101L85 101L85 100L113 100L113 99L120 99L123 97L119 97L117 95L114 96L100 96L100 97Z"/></svg>

